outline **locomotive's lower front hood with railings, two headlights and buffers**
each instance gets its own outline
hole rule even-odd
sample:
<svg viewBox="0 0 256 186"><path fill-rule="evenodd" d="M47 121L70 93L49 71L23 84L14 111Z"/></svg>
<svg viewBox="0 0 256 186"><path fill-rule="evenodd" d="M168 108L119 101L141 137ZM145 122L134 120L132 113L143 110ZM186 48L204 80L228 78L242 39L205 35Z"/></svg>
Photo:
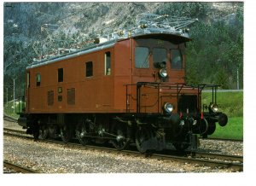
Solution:
<svg viewBox="0 0 256 186"><path fill-rule="evenodd" d="M216 123L227 124L227 115L218 112L216 91L209 106L201 108L201 92L205 87L217 89L217 85L200 84L197 87L176 83L137 83L137 115L143 124L151 124L152 137L165 147L167 143L178 150L197 148L197 137L207 137L216 129ZM207 108L207 111L204 109Z"/></svg>

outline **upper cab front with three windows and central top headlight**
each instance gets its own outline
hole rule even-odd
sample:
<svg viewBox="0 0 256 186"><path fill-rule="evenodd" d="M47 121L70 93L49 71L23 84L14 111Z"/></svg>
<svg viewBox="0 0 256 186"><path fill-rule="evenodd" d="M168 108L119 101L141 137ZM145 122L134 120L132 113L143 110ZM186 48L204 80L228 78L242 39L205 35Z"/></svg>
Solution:
<svg viewBox="0 0 256 186"><path fill-rule="evenodd" d="M133 40L132 83L184 83L185 42L189 38L171 34L147 34Z"/></svg>

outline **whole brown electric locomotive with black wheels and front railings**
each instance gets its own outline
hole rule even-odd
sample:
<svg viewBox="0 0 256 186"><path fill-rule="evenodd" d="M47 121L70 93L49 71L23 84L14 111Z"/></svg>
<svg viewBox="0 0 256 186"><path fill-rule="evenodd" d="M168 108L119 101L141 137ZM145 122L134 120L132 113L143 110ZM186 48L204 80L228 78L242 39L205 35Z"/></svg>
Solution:
<svg viewBox="0 0 256 186"><path fill-rule="evenodd" d="M61 137L135 143L140 152L197 147L224 126L217 85L185 84L185 44L190 38L148 33L117 38L26 68L26 108L19 125L35 138ZM212 89L212 102L201 91Z"/></svg>

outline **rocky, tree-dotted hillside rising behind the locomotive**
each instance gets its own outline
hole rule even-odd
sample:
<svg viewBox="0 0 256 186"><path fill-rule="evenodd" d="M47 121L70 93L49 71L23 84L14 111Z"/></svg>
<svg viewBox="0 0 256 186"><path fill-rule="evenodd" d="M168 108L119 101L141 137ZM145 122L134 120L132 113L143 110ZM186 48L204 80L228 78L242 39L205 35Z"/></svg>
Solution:
<svg viewBox="0 0 256 186"><path fill-rule="evenodd" d="M33 58L132 27L141 13L197 18L197 25L210 29L219 21L237 23L243 3L4 3L4 83L17 78L17 94L22 92L24 70ZM201 31L193 29L200 38Z"/></svg>

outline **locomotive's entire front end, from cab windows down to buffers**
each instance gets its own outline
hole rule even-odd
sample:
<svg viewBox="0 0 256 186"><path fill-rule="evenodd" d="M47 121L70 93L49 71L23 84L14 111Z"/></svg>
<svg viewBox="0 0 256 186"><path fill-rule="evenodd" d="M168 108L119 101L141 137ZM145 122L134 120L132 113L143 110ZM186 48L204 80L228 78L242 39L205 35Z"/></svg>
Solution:
<svg viewBox="0 0 256 186"><path fill-rule="evenodd" d="M154 123L149 131L142 126L139 134L161 138L158 143L171 142L179 150L197 148L197 134L207 137L215 131L216 122L224 126L228 121L224 113L218 112L218 85L185 84L185 42L188 41L166 34L135 38L131 84L134 93L126 96L127 112L131 112L130 97L136 97L133 105L136 105L140 123ZM126 92L129 92L127 87ZM204 88L212 88L212 102L207 110L205 105L201 108Z"/></svg>

